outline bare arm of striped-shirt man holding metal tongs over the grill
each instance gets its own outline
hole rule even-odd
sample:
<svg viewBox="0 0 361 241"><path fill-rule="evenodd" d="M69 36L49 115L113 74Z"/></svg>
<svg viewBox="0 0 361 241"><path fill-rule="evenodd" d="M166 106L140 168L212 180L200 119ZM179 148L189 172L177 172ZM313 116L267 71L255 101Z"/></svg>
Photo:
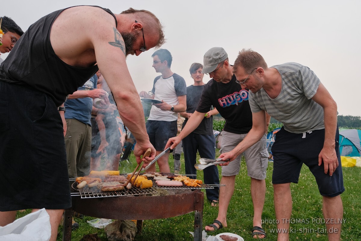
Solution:
<svg viewBox="0 0 361 241"><path fill-rule="evenodd" d="M252 113L252 121L252 129L248 132L243 141L241 141L232 151L222 153L219 158L222 158L222 160L230 159L232 161L262 138L266 129L265 111ZM228 165L228 163L225 164Z"/></svg>

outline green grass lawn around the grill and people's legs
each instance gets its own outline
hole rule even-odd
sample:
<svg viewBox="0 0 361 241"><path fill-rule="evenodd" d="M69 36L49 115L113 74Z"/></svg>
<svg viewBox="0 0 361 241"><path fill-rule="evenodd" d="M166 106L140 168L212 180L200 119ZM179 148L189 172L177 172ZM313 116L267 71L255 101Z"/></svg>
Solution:
<svg viewBox="0 0 361 241"><path fill-rule="evenodd" d="M131 155L131 163L122 162L119 167L122 173L132 172L136 166L134 155ZM184 159L182 154L182 172L184 173ZM169 165L173 167L173 157L169 158ZM173 171L173 170L172 170ZM221 168L219 167L219 171ZM271 183L273 171L273 163L269 163L266 178L266 201L262 219L265 221L263 228L267 233L267 240L277 240L277 234L271 233L271 229L276 228L276 224L272 223L275 220L274 204L273 204L273 186ZM221 172L220 172L221 173ZM345 223L342 225L342 240L357 241L361 240L361 168L349 167L343 168L345 192L341 195L344 206ZM198 171L198 179L203 178L203 172ZM247 176L247 169L245 163L241 164L240 175L236 177L235 192L232 196L228 214L227 214L227 228L219 231L208 233L215 236L218 233L231 232L236 233L244 238L244 240L252 240L252 217L253 206L250 194L250 178ZM317 232L325 230L325 225L320 224L322 220L322 203L321 196L318 192L316 181L309 169L304 165L298 184L291 184L291 192L293 198L293 209L291 219L298 223L291 224L291 228L295 230L290 234L290 240L317 240L326 241L327 234ZM204 195L205 197L205 195ZM179 203L179 205L182 205ZM161 212L161 210L160 210ZM18 217L29 213L18 212ZM206 224L212 223L213 219L217 217L218 208L211 207L206 197L204 200L203 210L203 229ZM98 233L102 241L107 241L104 229L93 228L88 225L87 220L92 220L92 217L85 217L84 219L75 218L80 227L72 232L72 239L74 241L80 240L85 234ZM300 221L309 223L299 223ZM144 220L142 234L135 237L135 241L183 241L193 240L188 231L193 232L194 213L177 216L168 219ZM300 230L303 230L302 232ZM62 228L59 228L60 236L62 237Z"/></svg>

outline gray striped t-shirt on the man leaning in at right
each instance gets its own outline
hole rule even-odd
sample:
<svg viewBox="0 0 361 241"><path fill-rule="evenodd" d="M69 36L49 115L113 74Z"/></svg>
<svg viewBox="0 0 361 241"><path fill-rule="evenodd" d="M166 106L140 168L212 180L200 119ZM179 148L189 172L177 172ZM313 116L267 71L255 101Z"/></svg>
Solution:
<svg viewBox="0 0 361 241"><path fill-rule="evenodd" d="M292 133L324 129L323 108L311 98L316 94L319 78L307 66L285 63L272 66L282 77L282 89L271 99L262 88L256 93L249 91L252 112L264 110L282 122L284 129Z"/></svg>

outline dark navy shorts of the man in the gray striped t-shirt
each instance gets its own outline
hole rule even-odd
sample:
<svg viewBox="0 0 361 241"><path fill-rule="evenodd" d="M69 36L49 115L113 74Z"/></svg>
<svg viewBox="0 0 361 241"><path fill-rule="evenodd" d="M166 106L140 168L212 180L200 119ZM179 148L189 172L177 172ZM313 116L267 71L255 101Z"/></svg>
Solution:
<svg viewBox="0 0 361 241"><path fill-rule="evenodd" d="M325 174L323 163L318 166L318 155L323 148L325 129L313 130L312 133L295 134L282 129L276 134L272 146L273 154L273 184L298 183L302 164L308 166L316 178L321 195L335 197L345 190L339 150L339 132L336 130L335 151L339 166L332 176Z"/></svg>

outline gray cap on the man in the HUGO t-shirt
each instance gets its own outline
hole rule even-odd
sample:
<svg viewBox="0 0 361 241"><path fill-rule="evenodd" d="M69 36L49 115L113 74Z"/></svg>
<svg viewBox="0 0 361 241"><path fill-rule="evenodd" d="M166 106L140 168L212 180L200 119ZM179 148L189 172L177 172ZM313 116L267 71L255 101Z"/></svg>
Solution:
<svg viewBox="0 0 361 241"><path fill-rule="evenodd" d="M210 73L217 68L219 63L222 63L228 58L228 55L224 48L213 47L210 48L203 57L203 70L202 73Z"/></svg>

